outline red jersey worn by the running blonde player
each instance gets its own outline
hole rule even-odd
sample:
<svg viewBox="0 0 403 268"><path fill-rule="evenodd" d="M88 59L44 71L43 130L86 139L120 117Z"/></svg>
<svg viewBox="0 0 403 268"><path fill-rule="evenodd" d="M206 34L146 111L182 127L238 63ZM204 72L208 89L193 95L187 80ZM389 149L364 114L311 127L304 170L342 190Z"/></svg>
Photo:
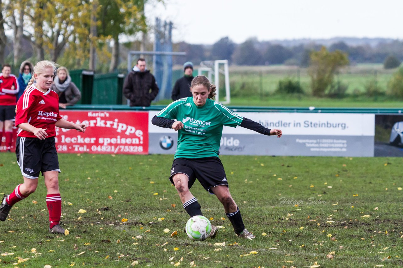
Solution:
<svg viewBox="0 0 403 268"><path fill-rule="evenodd" d="M24 91L17 102L15 125L29 123L36 128L48 129L48 137L56 136L56 121L62 119L59 114L59 96L53 90L45 93L31 85ZM20 129L17 136L36 138L32 132Z"/></svg>

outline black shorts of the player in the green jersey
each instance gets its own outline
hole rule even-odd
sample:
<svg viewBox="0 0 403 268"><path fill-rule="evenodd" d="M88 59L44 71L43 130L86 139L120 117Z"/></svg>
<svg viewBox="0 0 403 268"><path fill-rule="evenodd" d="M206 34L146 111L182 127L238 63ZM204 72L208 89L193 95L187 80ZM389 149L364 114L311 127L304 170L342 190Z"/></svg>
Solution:
<svg viewBox="0 0 403 268"><path fill-rule="evenodd" d="M214 194L212 192L214 186L228 186L224 166L218 157L176 158L172 163L171 176L169 177L172 184L174 184L172 177L178 173L186 174L189 177L189 189L196 179L210 194Z"/></svg>

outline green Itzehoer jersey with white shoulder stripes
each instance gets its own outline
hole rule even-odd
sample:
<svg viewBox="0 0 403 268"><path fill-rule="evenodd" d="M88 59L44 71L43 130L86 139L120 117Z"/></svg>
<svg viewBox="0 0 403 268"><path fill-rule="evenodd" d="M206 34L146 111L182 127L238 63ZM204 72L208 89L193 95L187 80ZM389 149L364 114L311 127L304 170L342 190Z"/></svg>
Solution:
<svg viewBox="0 0 403 268"><path fill-rule="evenodd" d="M222 126L237 127L243 120L243 117L214 100L207 99L206 104L199 107L193 102L193 97L172 102L157 117L176 119L184 125L178 131L174 158L218 156Z"/></svg>

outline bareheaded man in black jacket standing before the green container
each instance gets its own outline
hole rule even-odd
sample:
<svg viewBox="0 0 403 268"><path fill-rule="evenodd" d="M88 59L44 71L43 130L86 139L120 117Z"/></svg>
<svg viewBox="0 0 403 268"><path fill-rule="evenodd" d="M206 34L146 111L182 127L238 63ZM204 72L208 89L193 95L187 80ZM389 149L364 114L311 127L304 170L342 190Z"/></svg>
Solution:
<svg viewBox="0 0 403 268"><path fill-rule="evenodd" d="M150 106L158 90L154 76L145 68L145 59L138 59L123 84L123 94L130 100L130 106Z"/></svg>

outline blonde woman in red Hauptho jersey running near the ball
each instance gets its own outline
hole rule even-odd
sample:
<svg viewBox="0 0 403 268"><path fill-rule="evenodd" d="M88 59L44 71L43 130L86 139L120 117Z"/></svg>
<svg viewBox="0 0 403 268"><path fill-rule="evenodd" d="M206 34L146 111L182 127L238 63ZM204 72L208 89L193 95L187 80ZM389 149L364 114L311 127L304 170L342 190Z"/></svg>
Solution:
<svg viewBox="0 0 403 268"><path fill-rule="evenodd" d="M0 221L6 220L12 205L35 192L39 173L42 172L48 190L46 205L49 211L49 232L64 233L65 230L59 225L62 198L58 182L60 169L54 139L55 127L84 132L87 125L74 124L60 117L58 95L50 90L56 74L56 63L39 61L33 73L24 94L17 102L15 118L15 125L20 128L15 152L24 183L4 196L0 205ZM33 84L34 80L36 84Z"/></svg>

